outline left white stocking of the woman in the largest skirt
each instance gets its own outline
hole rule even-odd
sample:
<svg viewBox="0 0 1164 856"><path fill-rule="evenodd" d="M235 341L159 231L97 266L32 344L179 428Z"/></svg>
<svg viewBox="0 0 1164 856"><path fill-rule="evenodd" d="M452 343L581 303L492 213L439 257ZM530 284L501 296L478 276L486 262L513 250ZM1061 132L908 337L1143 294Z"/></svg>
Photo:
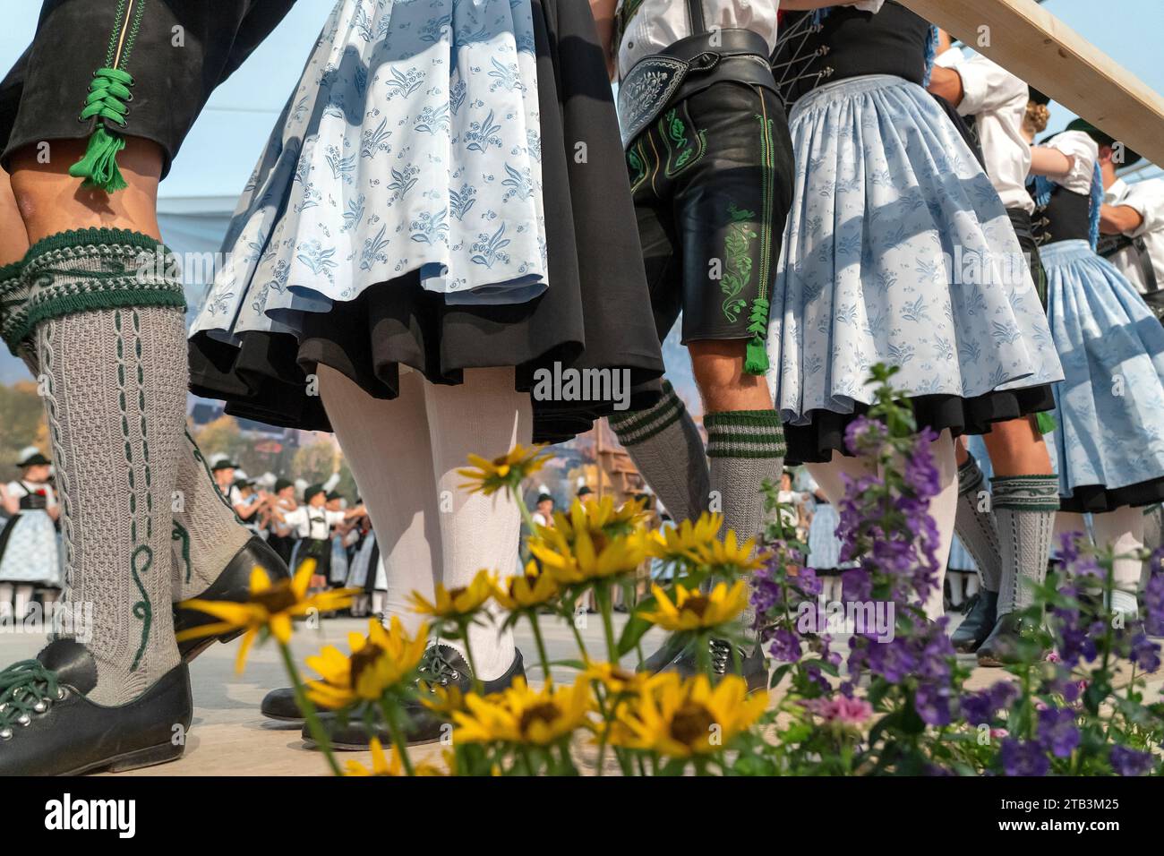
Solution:
<svg viewBox="0 0 1164 856"><path fill-rule="evenodd" d="M396 616L414 631L421 616L412 611L409 596L419 592L432 600L440 567L425 380L405 373L400 396L382 401L327 366L319 367L319 377L324 406L368 507L384 560L388 592L377 592L381 602L374 610L383 610L385 622Z"/></svg>

